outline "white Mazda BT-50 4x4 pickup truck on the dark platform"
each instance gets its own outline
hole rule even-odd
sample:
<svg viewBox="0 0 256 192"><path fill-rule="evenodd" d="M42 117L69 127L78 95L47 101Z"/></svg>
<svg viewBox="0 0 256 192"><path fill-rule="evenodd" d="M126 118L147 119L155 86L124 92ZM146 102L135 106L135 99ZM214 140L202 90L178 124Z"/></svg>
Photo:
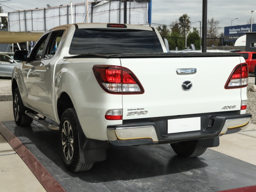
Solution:
<svg viewBox="0 0 256 192"><path fill-rule="evenodd" d="M23 61L12 73L15 122L59 130L73 172L105 160L109 143L170 143L178 155L197 157L251 121L241 54L167 53L152 27L63 25L14 59Z"/></svg>

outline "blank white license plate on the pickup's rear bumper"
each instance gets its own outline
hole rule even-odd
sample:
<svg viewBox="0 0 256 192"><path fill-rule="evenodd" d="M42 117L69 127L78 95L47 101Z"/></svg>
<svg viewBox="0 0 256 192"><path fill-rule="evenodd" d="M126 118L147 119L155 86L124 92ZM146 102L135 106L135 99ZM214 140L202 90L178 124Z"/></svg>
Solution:
<svg viewBox="0 0 256 192"><path fill-rule="evenodd" d="M200 131L201 117L183 118L183 119L169 119L168 133L180 133L187 131Z"/></svg>

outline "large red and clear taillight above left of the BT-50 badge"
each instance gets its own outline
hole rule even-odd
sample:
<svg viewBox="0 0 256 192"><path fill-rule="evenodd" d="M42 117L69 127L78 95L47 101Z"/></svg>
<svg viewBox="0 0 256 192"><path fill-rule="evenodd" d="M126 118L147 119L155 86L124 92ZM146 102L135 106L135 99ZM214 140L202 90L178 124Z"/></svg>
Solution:
<svg viewBox="0 0 256 192"><path fill-rule="evenodd" d="M144 89L129 69L114 65L94 65L99 85L111 94L143 94Z"/></svg>

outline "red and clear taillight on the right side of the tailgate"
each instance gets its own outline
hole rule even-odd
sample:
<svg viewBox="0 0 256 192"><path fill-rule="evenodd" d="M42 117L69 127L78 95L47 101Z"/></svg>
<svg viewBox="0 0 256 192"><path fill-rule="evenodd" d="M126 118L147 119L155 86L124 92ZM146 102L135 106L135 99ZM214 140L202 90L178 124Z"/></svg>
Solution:
<svg viewBox="0 0 256 192"><path fill-rule="evenodd" d="M242 88L248 85L249 71L247 63L237 65L226 82L225 89Z"/></svg>

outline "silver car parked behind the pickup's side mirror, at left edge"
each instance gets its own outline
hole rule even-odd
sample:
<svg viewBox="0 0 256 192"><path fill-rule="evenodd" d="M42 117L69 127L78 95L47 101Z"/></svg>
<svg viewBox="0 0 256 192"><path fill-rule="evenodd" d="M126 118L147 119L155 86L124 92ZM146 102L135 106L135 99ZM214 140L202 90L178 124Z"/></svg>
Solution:
<svg viewBox="0 0 256 192"><path fill-rule="evenodd" d="M0 77L11 77L13 68L19 64L13 59L13 54L0 52Z"/></svg>

